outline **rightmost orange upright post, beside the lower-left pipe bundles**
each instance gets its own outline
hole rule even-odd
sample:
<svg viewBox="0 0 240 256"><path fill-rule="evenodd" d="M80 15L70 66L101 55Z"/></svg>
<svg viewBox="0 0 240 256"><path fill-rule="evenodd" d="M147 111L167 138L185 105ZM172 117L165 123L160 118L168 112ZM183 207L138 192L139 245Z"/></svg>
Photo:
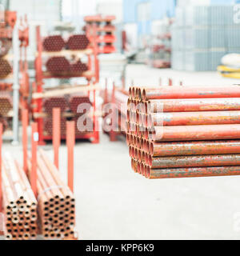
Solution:
<svg viewBox="0 0 240 256"><path fill-rule="evenodd" d="M66 146L67 146L67 182L70 190L74 192L74 145L75 122L66 122Z"/></svg>

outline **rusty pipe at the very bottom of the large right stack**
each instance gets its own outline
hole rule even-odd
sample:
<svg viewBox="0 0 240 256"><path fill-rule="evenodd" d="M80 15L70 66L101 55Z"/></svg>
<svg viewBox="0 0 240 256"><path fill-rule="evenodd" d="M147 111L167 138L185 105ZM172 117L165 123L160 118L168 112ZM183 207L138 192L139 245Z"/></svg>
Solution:
<svg viewBox="0 0 240 256"><path fill-rule="evenodd" d="M174 168L174 169L150 169L146 170L147 178L194 178L240 175L240 166L220 166L202 168Z"/></svg>

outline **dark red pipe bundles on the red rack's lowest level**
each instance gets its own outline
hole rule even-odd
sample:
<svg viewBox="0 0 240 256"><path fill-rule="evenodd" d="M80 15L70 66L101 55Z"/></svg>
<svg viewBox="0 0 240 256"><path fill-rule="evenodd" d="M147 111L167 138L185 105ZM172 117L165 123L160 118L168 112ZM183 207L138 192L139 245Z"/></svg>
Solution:
<svg viewBox="0 0 240 256"><path fill-rule="evenodd" d="M83 105L82 105L83 104ZM79 108L80 106L80 108ZM81 106L84 110L81 110ZM76 138L81 137L82 134L92 133L94 129L94 122L92 117L92 103L89 96L86 94L74 94L69 97L59 96L46 98L43 102L43 110L46 113L46 117L43 118L43 133L45 136L52 138L53 136L53 109L60 108L62 116L60 121L60 130L62 138L66 137L66 122L75 121L75 135ZM86 110L85 110L86 109ZM89 116L86 116L84 120L80 120L82 117L82 111L87 111ZM79 122L78 122L79 121Z"/></svg>

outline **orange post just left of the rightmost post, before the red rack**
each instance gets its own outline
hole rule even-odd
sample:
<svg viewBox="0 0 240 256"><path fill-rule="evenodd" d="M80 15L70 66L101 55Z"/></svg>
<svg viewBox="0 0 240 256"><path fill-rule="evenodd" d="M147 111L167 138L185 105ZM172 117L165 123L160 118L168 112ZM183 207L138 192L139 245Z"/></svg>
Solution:
<svg viewBox="0 0 240 256"><path fill-rule="evenodd" d="M59 167L59 146L61 144L61 110L53 109L53 144L54 144L54 165Z"/></svg>

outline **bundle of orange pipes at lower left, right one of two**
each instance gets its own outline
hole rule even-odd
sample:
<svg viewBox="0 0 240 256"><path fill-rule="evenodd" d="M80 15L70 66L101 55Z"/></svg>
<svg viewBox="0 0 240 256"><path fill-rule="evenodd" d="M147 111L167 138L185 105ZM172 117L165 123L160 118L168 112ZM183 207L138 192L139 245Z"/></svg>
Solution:
<svg viewBox="0 0 240 256"><path fill-rule="evenodd" d="M73 238L75 231L74 194L43 150L38 152L38 218L44 238ZM31 170L30 158L28 161Z"/></svg>

